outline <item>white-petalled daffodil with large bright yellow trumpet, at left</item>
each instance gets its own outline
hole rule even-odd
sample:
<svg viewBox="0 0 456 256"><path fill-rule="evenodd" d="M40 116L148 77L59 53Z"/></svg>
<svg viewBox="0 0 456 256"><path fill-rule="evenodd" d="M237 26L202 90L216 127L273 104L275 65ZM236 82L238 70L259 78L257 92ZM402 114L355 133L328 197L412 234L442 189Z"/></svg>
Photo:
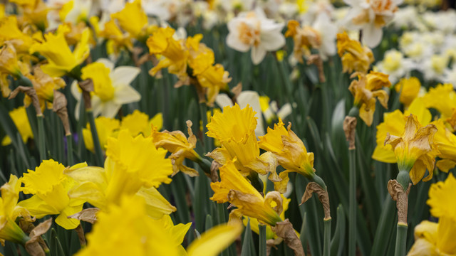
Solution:
<svg viewBox="0 0 456 256"><path fill-rule="evenodd" d="M140 68L136 67L114 68L114 63L108 59L98 59L96 62L86 65L82 69L82 78L93 80L93 115L96 117L101 114L104 117L113 118L123 104L141 100L141 95L130 86L130 82L135 80L139 73ZM71 92L78 100L75 113L78 119L81 91L76 81L71 85Z"/></svg>

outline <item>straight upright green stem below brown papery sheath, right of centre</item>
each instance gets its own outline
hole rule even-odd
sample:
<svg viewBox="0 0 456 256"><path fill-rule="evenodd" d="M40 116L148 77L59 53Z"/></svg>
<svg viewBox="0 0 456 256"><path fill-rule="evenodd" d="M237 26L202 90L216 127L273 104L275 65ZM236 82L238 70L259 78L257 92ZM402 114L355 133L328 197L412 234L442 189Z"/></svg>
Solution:
<svg viewBox="0 0 456 256"><path fill-rule="evenodd" d="M349 209L348 221L348 255L356 255L356 151L348 150L348 161L350 166L350 188L349 188Z"/></svg>

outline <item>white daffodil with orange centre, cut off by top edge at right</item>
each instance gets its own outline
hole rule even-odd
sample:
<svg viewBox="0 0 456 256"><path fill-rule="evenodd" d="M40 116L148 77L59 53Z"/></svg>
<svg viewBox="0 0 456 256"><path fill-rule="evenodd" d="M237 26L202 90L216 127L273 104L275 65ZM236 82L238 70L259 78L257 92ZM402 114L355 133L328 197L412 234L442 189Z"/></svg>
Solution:
<svg viewBox="0 0 456 256"><path fill-rule="evenodd" d="M352 29L363 31L363 44L374 48L380 43L382 28L393 19L403 0L344 0L351 6L346 22Z"/></svg>

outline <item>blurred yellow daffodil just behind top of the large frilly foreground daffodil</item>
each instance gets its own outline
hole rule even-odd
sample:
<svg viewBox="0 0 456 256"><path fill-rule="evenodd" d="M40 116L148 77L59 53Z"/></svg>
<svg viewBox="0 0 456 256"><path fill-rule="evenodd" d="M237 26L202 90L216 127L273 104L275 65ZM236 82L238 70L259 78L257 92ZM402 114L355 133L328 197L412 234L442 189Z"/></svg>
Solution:
<svg viewBox="0 0 456 256"><path fill-rule="evenodd" d="M142 134L144 137L149 137L152 134L152 124L157 128L157 131L162 129L162 113L157 113L152 119L149 119L149 115L135 110L132 114L123 117L122 122L120 122L120 129L128 129L132 136Z"/></svg>

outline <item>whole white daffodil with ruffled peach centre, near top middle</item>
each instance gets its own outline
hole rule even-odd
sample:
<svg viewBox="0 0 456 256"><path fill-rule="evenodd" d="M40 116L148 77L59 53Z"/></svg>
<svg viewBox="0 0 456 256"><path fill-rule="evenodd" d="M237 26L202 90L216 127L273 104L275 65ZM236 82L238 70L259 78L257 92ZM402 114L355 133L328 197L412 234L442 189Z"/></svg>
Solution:
<svg viewBox="0 0 456 256"><path fill-rule="evenodd" d="M242 12L228 23L227 45L241 52L252 48L252 62L257 65L267 51L279 50L285 45L282 28L284 23L266 18L261 9Z"/></svg>

